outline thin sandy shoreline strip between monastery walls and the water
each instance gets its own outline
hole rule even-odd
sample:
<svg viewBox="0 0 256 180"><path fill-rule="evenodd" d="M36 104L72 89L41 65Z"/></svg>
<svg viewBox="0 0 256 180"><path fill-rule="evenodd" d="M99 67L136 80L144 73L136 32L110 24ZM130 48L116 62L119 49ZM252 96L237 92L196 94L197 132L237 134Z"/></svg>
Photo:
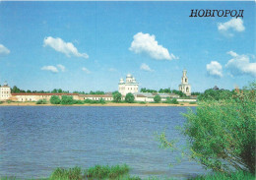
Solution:
<svg viewBox="0 0 256 180"><path fill-rule="evenodd" d="M183 105L182 105L183 104ZM197 104L190 104L188 102L183 102L180 104L169 104L169 103L114 103L114 102L106 102L105 104L73 104L73 105L61 105L61 104L36 104L35 102L3 102L0 106L142 106L142 107L167 107L167 106L177 106L177 107L185 107L185 106L197 106Z"/></svg>

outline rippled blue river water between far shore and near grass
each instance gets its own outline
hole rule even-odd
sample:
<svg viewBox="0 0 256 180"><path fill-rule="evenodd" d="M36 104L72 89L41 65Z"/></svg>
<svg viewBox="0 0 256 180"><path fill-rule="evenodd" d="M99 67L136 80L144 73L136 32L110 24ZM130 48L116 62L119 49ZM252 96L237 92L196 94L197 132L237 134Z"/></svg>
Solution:
<svg viewBox="0 0 256 180"><path fill-rule="evenodd" d="M161 150L156 132L175 130L186 107L0 107L0 176L48 177L56 167L126 163L131 174L185 178L205 171Z"/></svg>

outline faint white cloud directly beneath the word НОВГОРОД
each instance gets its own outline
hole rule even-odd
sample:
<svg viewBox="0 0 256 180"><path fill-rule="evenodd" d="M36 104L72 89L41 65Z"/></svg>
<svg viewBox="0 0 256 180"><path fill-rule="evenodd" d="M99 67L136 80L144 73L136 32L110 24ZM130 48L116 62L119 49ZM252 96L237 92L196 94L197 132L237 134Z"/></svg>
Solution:
<svg viewBox="0 0 256 180"><path fill-rule="evenodd" d="M243 21L240 18L233 18L231 20L229 20L228 22L225 23L219 23L218 24L218 30L223 32L226 35L232 36L233 33L231 33L229 30L233 30L233 31L243 31L245 30L244 26L243 26Z"/></svg>

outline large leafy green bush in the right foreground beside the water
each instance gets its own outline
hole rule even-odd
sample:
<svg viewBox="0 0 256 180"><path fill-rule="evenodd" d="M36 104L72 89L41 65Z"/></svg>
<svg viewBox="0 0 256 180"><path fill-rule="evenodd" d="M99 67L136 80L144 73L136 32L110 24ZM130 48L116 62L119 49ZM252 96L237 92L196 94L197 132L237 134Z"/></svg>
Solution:
<svg viewBox="0 0 256 180"><path fill-rule="evenodd" d="M183 134L188 138L188 155L206 168L220 172L233 169L255 173L256 84L236 90L232 98L204 101L196 112L183 114ZM160 135L163 147L178 150Z"/></svg>

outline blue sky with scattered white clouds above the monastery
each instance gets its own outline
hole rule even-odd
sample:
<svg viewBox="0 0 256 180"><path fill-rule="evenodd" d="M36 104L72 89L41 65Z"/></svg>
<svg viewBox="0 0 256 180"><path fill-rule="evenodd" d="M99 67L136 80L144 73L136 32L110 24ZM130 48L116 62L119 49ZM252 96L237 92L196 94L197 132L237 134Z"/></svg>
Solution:
<svg viewBox="0 0 256 180"><path fill-rule="evenodd" d="M243 19L190 18L244 10ZM0 2L0 84L23 90L232 90L256 78L255 2Z"/></svg>

